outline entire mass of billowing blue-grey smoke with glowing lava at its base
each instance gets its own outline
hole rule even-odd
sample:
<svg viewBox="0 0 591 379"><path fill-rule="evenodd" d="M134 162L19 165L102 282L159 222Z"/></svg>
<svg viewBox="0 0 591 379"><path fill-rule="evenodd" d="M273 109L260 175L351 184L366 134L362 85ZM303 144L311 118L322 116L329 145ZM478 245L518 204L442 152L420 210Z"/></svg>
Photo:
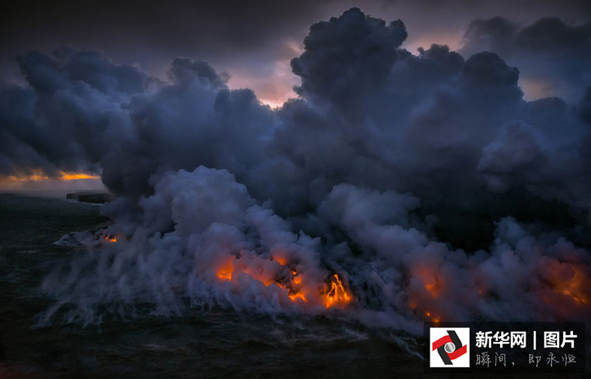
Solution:
<svg viewBox="0 0 591 379"><path fill-rule="evenodd" d="M499 55L413 55L406 36L357 8L314 24L291 61L299 97L277 109L189 58L159 81L89 51L20 57L1 172L97 170L117 196L113 225L44 280L41 322L140 304L341 309L413 331L588 319L591 88L527 102Z"/></svg>

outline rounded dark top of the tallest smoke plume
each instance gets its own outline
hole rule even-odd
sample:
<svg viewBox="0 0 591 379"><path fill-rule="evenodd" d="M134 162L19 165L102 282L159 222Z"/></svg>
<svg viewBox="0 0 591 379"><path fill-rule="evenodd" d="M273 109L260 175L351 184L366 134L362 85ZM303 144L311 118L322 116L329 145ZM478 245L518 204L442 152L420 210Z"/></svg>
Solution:
<svg viewBox="0 0 591 379"><path fill-rule="evenodd" d="M298 92L351 99L375 91L406 37L400 20L386 25L357 10L312 25L304 40L304 53L291 61L293 73L302 78Z"/></svg>

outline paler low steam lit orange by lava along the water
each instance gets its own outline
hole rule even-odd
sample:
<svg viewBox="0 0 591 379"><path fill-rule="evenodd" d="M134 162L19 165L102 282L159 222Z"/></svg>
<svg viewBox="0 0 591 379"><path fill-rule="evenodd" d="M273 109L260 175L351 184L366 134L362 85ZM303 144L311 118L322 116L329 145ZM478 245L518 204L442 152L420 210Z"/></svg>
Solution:
<svg viewBox="0 0 591 379"><path fill-rule="evenodd" d="M169 172L138 203L137 223L88 236L90 253L47 277L43 289L59 300L41 323L65 305L75 305L67 321L92 323L99 306L125 315L138 303L154 304L157 314L216 304L289 314L340 308L413 332L423 320L588 316L588 252L565 239L550 243L503 218L491 250L468 255L412 227L380 223L380 204L405 218L416 198L333 188L318 214L332 216L350 242L322 243L291 232L227 170Z"/></svg>

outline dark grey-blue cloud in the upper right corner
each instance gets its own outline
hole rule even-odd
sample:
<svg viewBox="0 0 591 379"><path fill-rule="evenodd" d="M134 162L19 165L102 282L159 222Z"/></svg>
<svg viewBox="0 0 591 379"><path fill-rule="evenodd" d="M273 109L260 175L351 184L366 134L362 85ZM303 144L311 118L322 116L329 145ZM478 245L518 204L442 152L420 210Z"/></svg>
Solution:
<svg viewBox="0 0 591 379"><path fill-rule="evenodd" d="M471 22L464 40L464 54L495 51L524 67L526 79L537 82L547 93L574 102L591 86L591 22L572 24L544 17L521 25L503 17L478 19Z"/></svg>

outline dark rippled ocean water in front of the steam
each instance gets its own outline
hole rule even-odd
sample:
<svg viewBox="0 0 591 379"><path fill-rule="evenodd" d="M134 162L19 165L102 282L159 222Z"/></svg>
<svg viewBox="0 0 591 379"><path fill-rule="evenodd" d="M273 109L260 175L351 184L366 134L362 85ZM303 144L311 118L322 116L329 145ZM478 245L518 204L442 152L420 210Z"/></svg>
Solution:
<svg viewBox="0 0 591 379"><path fill-rule="evenodd" d="M137 304L133 314L105 312L98 325L37 326L54 302L40 291L43 278L85 253L54 242L108 221L95 205L0 195L0 379L423 376L421 338L339 316L215 307L154 316Z"/></svg>

